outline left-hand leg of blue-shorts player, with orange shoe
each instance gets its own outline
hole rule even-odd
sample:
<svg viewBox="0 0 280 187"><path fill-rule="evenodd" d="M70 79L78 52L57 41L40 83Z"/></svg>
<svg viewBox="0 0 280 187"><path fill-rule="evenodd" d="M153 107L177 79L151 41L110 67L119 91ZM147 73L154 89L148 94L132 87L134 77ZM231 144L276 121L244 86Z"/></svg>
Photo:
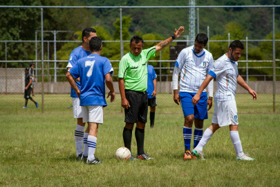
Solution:
<svg viewBox="0 0 280 187"><path fill-rule="evenodd" d="M184 160L192 159L191 140L192 140L192 124L194 123L194 105L192 105L192 94L187 92L179 92L180 103L185 117L183 127L183 137L185 144Z"/></svg>

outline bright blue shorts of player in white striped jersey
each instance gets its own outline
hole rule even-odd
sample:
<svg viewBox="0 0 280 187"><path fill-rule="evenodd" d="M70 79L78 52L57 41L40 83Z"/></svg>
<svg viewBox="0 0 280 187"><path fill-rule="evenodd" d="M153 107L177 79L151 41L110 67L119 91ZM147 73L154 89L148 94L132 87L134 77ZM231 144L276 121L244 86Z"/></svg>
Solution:
<svg viewBox="0 0 280 187"><path fill-rule="evenodd" d="M194 114L194 118L197 119L207 119L207 92L204 91L201 96L198 104L192 105L192 98L196 93L189 92L179 92L180 103L183 109L184 117Z"/></svg>

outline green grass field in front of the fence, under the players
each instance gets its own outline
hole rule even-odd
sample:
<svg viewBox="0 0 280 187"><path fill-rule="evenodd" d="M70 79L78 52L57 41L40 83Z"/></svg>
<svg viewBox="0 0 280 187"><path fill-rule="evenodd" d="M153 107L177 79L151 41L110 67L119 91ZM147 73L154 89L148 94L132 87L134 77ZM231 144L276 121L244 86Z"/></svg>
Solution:
<svg viewBox="0 0 280 187"><path fill-rule="evenodd" d="M76 121L66 111L0 115L0 186L280 186L280 114L239 114L243 151L257 159L249 162L235 161L228 127L205 146L206 161L183 161L183 115L156 114L144 147L156 159L127 163L113 157L124 114L104 114L96 149L104 163L87 166L75 161ZM137 154L134 133L131 149Z"/></svg>

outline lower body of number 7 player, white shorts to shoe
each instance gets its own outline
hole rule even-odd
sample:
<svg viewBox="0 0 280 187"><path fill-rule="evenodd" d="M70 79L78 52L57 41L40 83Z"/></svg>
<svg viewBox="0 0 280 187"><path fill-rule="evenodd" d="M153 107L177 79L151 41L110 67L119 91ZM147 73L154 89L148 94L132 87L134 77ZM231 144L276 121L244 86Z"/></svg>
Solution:
<svg viewBox="0 0 280 187"><path fill-rule="evenodd" d="M97 131L98 125L103 123L103 106L84 106L88 109L88 118L84 122L88 121L88 159L86 163L97 164L102 163L97 157L95 157L95 148L97 145ZM83 108L84 108L83 107ZM83 113L84 114L84 113Z"/></svg>

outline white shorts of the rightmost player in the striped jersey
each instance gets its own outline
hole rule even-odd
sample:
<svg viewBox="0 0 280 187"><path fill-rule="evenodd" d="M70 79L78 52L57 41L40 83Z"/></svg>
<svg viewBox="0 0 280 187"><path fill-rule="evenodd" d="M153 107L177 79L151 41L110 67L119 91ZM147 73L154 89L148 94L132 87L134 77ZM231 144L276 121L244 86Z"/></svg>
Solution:
<svg viewBox="0 0 280 187"><path fill-rule="evenodd" d="M214 114L212 123L223 127L227 125L239 125L235 100L214 101Z"/></svg>

